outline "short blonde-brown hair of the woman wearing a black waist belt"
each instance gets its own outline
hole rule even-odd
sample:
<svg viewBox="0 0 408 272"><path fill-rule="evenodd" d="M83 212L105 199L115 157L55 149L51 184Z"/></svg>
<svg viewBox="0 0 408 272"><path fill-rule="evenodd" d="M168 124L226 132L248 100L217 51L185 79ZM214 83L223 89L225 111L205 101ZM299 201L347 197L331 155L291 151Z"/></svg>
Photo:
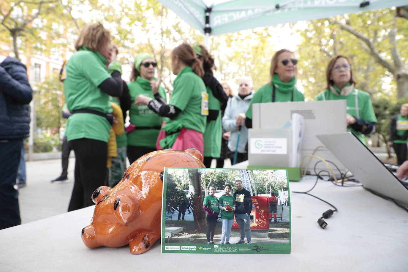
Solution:
<svg viewBox="0 0 408 272"><path fill-rule="evenodd" d="M103 27L101 23L85 24L80 30L74 46L78 51L82 46L89 50L97 51L102 43L111 40L111 32Z"/></svg>

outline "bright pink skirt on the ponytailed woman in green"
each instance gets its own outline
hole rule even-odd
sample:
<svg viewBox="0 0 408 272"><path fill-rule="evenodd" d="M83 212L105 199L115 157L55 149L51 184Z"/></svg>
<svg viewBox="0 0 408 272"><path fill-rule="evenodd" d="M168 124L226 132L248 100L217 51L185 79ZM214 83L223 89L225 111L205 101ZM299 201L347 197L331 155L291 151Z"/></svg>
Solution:
<svg viewBox="0 0 408 272"><path fill-rule="evenodd" d="M157 150L163 149L160 146L160 140L166 137L166 131L160 130L159 136L156 141ZM201 132L197 130L182 128L180 134L178 135L176 141L174 142L171 149L173 150L186 150L188 148L195 148L201 152L204 158L204 138Z"/></svg>

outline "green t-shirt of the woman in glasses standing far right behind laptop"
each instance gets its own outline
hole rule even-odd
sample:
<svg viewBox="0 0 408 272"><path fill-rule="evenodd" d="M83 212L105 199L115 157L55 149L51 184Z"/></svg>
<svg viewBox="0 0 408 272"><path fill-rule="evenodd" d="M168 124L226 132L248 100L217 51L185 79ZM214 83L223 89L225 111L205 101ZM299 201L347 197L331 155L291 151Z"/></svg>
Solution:
<svg viewBox="0 0 408 272"><path fill-rule="evenodd" d="M346 100L347 113L358 119L363 119L368 122L377 123L375 118L373 104L371 103L370 95L366 92L359 91L356 88L351 91L349 95L337 95L330 90L326 90L317 95L316 101L319 100ZM363 133L355 131L350 126L347 127L348 131L351 131L356 135L361 142L366 144L366 137Z"/></svg>

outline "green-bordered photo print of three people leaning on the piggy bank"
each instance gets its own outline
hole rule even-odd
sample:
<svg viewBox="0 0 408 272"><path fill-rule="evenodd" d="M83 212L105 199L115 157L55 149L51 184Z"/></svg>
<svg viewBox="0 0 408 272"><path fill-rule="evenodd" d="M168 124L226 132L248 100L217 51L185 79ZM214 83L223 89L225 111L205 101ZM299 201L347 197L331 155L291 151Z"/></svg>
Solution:
<svg viewBox="0 0 408 272"><path fill-rule="evenodd" d="M286 170L166 168L162 252L290 253L288 199Z"/></svg>

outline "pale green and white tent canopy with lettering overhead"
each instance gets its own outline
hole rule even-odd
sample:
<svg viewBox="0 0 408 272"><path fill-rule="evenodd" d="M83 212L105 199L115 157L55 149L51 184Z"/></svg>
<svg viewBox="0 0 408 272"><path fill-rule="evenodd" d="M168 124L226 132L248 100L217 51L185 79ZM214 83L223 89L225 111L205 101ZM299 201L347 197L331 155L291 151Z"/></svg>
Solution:
<svg viewBox="0 0 408 272"><path fill-rule="evenodd" d="M399 7L407 0L158 0L195 29L219 35L242 29Z"/></svg>

